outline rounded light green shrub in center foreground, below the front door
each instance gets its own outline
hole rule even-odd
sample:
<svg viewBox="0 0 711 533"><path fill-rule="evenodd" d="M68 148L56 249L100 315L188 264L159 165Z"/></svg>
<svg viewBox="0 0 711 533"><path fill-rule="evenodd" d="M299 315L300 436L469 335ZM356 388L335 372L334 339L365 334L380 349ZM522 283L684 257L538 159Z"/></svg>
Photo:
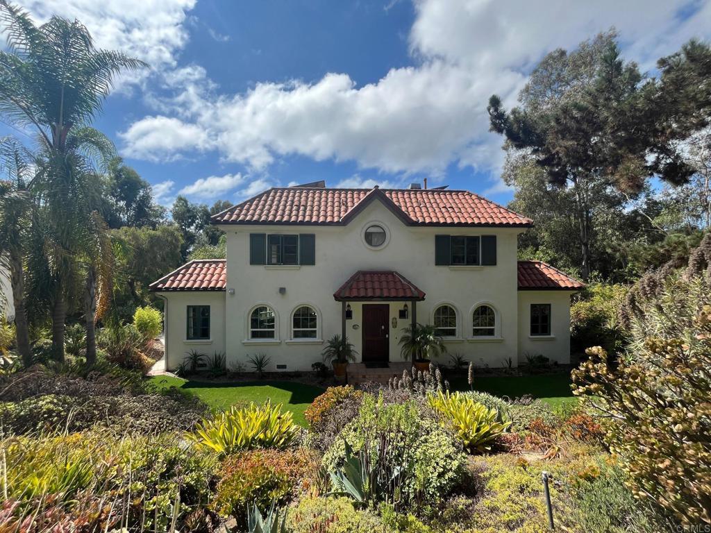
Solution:
<svg viewBox="0 0 711 533"><path fill-rule="evenodd" d="M354 453L369 453L370 464L378 463L379 471L400 471L399 490L387 495L397 508L442 500L466 461L454 436L413 400L384 404L382 397L365 394L358 415L324 455L322 464L329 472L343 464L346 443Z"/></svg>

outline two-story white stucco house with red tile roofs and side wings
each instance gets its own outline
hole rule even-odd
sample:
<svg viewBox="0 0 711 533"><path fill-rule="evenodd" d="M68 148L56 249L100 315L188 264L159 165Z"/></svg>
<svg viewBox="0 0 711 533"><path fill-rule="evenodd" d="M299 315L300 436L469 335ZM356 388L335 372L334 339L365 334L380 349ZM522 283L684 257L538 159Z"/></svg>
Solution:
<svg viewBox="0 0 711 533"><path fill-rule="evenodd" d="M449 353L501 367L569 362L570 296L582 287L517 261L533 222L466 190L272 188L214 215L227 259L192 261L151 284L164 298L166 365L266 353L311 370L336 333L362 362L401 362L402 329L439 328ZM443 361L448 362L448 361Z"/></svg>

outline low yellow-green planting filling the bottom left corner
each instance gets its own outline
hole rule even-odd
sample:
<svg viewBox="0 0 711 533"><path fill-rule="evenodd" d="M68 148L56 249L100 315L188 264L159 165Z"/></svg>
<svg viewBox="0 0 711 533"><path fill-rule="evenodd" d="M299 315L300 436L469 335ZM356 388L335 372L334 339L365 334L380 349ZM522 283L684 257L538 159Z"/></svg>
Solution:
<svg viewBox="0 0 711 533"><path fill-rule="evenodd" d="M122 525L130 531L168 531L173 516L178 530L188 530L183 524L208 500L215 469L213 456L186 449L175 434L20 437L0 441L0 448L6 453L10 502L3 525L34 514L39 522L31 531L58 531L57 524L64 531Z"/></svg>

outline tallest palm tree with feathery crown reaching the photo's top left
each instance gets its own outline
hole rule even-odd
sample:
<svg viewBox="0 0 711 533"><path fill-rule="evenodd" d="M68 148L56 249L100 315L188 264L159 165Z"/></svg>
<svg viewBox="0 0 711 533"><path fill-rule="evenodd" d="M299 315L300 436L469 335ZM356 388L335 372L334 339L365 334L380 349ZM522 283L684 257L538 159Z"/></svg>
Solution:
<svg viewBox="0 0 711 533"><path fill-rule="evenodd" d="M7 50L0 51L0 114L12 124L35 129L43 154L38 200L52 241L46 249L53 350L63 360L68 294L76 274L73 260L80 247L77 230L92 212L86 210L87 190L82 190L91 174L82 153L92 144L85 126L100 112L115 75L145 63L97 50L78 21L53 16L35 26L26 12L6 0L0 0L0 23L8 36Z"/></svg>

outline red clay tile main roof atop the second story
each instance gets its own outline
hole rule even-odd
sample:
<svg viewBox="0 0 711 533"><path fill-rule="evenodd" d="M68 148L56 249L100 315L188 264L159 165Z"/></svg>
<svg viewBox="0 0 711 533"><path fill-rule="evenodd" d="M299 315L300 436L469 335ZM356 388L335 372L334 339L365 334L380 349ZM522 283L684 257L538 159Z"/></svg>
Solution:
<svg viewBox="0 0 711 533"><path fill-rule="evenodd" d="M214 224L343 225L380 198L407 225L529 227L533 221L466 190L271 188L213 215Z"/></svg>

